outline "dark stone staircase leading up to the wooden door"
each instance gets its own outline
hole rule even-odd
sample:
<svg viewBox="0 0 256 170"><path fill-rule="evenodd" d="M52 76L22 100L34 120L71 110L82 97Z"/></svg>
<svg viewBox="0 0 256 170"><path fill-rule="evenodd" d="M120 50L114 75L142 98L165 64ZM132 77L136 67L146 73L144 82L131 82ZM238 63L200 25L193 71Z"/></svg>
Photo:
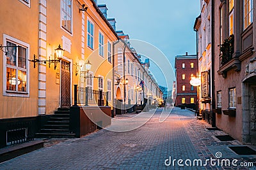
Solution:
<svg viewBox="0 0 256 170"><path fill-rule="evenodd" d="M36 138L75 138L75 134L69 131L69 123L69 108L58 108L43 129L36 133Z"/></svg>

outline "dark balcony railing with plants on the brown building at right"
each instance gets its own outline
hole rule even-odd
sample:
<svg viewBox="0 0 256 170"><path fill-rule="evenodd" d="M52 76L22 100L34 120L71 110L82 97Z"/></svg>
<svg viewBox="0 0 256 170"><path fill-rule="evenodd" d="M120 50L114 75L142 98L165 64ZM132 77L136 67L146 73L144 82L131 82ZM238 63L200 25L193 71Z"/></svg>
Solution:
<svg viewBox="0 0 256 170"><path fill-rule="evenodd" d="M220 66L223 66L223 64L232 60L232 55L234 53L234 34L231 34L224 40L223 44L219 46L221 51Z"/></svg>

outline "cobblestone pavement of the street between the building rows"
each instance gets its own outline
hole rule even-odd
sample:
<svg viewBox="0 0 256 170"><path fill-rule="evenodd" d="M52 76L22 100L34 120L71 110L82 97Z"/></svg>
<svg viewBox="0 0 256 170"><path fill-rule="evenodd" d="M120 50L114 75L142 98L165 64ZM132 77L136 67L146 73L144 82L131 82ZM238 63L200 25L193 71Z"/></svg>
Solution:
<svg viewBox="0 0 256 170"><path fill-rule="evenodd" d="M0 169L255 169L253 167L227 167L218 164L205 166L178 166L187 159L237 159L255 162L256 156L239 156L228 146L241 145L239 141L221 142L214 135L223 131L209 131L203 120L196 120L193 112L174 108L164 122L159 122L161 110L157 110L147 124L127 132L102 129L79 139L51 142L36 150L0 164ZM141 113L140 113L141 114ZM139 115L140 115L139 114ZM132 118L136 115L118 115L116 118ZM132 124L132 121L130 122ZM115 125L115 123L113 123ZM252 147L252 146L250 146ZM170 159L171 157L171 159ZM176 159L175 166L170 161Z"/></svg>

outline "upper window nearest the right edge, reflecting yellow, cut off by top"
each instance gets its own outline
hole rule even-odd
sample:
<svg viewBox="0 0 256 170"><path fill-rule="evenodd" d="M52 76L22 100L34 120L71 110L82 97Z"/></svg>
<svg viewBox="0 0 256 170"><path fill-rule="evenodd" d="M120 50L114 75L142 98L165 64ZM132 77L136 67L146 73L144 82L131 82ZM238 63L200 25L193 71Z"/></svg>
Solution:
<svg viewBox="0 0 256 170"><path fill-rule="evenodd" d="M246 29L253 21L253 0L244 0L244 29Z"/></svg>

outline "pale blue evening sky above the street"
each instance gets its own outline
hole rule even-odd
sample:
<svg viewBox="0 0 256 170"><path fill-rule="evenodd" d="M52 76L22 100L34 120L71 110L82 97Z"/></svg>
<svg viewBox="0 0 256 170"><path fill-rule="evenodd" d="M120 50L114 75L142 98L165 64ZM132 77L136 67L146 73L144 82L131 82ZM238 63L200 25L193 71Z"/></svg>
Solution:
<svg viewBox="0 0 256 170"><path fill-rule="evenodd" d="M146 41L159 48L173 69L175 55L196 53L193 25L200 14L199 0L98 0L98 4L107 5L108 18L116 19L116 30L123 30L130 39ZM153 64L151 71L159 85L166 86Z"/></svg>

